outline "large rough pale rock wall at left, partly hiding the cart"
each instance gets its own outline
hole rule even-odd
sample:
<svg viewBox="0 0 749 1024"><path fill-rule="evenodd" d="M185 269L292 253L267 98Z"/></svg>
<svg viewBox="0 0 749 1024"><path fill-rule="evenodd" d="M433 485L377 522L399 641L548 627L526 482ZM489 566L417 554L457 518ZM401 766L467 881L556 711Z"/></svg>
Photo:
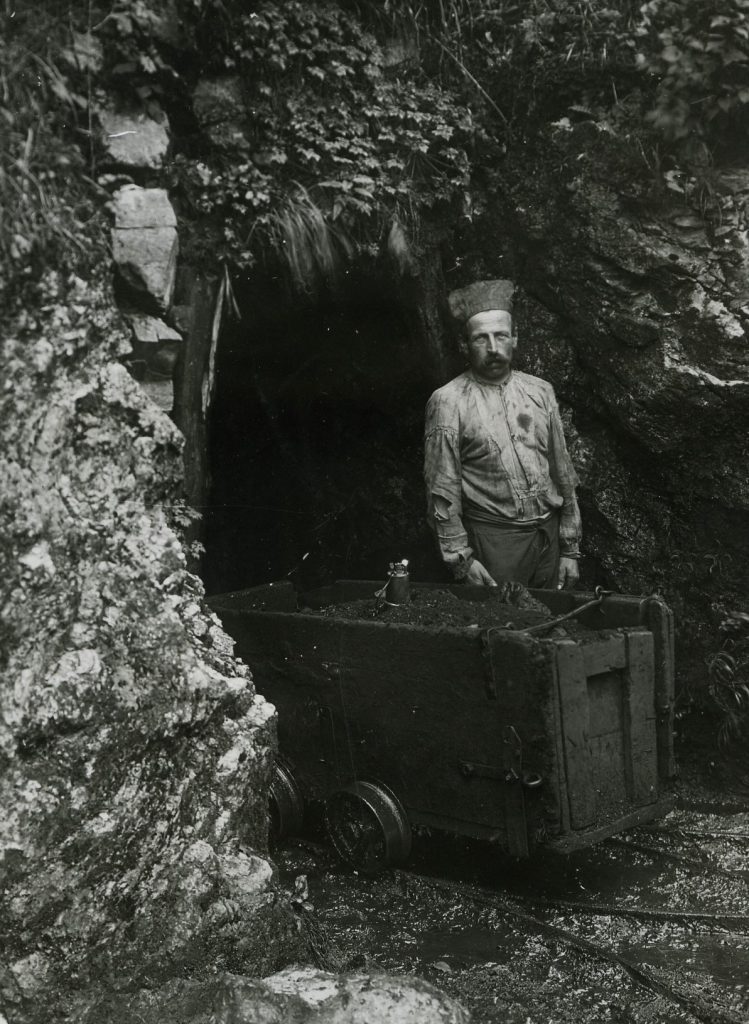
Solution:
<svg viewBox="0 0 749 1024"><path fill-rule="evenodd" d="M273 708L185 569L182 438L106 284L5 341L0 1008L308 958L266 859ZM85 996L84 1002L85 1002ZM80 1010L80 1004L76 1004Z"/></svg>

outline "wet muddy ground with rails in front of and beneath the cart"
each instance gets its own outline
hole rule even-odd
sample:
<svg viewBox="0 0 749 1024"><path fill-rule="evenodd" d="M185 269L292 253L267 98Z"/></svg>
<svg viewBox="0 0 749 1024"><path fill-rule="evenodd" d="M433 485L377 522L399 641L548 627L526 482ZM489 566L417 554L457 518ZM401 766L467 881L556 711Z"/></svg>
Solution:
<svg viewBox="0 0 749 1024"><path fill-rule="evenodd" d="M308 840L277 861L330 966L418 975L477 1024L749 1022L745 785L682 786L648 827L526 864L435 836L375 879Z"/></svg>

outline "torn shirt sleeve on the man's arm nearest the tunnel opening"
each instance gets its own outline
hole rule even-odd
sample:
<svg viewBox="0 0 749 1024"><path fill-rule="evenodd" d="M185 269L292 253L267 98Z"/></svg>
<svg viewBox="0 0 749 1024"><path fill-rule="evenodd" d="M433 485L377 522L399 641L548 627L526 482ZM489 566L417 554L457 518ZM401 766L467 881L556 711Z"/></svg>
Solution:
<svg viewBox="0 0 749 1024"><path fill-rule="evenodd" d="M461 519L460 431L457 411L439 393L426 406L424 481L429 526L443 560L459 577L472 554Z"/></svg>

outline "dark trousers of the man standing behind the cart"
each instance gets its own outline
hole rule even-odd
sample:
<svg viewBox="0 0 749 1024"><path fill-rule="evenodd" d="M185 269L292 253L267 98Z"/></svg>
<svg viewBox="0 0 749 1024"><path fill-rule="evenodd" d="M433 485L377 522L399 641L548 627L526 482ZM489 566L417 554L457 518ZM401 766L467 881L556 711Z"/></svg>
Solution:
<svg viewBox="0 0 749 1024"><path fill-rule="evenodd" d="M473 557L496 583L555 590L559 570L559 517L530 525L463 519Z"/></svg>

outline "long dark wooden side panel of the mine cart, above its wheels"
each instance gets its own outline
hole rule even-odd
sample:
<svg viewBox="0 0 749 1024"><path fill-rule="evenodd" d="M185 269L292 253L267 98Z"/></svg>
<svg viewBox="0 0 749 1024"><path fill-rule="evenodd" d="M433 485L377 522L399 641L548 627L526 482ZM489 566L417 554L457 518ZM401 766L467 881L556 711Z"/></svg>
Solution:
<svg viewBox="0 0 749 1024"><path fill-rule="evenodd" d="M477 631L217 610L307 796L376 777L414 820L505 845L506 723Z"/></svg>

